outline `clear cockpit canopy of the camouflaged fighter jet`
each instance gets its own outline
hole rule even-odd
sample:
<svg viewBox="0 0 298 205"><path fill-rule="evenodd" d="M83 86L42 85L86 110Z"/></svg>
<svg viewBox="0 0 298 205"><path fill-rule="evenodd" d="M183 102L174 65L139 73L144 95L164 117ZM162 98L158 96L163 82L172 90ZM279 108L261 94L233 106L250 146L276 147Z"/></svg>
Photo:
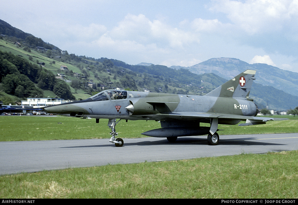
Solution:
<svg viewBox="0 0 298 205"><path fill-rule="evenodd" d="M105 90L90 97L92 101L103 100L120 100L127 98L127 91L125 90Z"/></svg>

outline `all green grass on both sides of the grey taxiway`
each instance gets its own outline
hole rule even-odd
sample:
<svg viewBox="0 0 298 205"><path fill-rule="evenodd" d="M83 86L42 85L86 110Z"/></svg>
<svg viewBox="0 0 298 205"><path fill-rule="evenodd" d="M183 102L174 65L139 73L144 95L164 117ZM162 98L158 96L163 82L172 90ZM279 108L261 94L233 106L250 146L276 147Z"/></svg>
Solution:
<svg viewBox="0 0 298 205"><path fill-rule="evenodd" d="M298 118L266 125L220 125L223 134L298 133ZM59 124L58 124L59 123ZM0 140L110 138L106 119L0 116ZM207 125L206 125L207 126ZM160 128L120 121L122 138ZM207 146L207 145L206 145ZM69 168L0 176L1 198L297 198L298 151Z"/></svg>

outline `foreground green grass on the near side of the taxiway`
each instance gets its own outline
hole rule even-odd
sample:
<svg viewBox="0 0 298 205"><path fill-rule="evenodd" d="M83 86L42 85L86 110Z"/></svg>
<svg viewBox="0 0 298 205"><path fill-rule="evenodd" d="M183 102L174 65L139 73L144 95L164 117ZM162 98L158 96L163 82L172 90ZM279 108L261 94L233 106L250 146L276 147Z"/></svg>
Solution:
<svg viewBox="0 0 298 205"><path fill-rule="evenodd" d="M1 198L297 198L297 151L0 176Z"/></svg>

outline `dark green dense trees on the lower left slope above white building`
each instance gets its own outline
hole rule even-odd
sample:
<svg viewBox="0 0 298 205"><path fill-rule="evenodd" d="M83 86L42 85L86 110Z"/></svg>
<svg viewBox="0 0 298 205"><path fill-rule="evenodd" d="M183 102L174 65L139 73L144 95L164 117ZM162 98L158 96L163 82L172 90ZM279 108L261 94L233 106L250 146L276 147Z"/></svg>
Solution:
<svg viewBox="0 0 298 205"><path fill-rule="evenodd" d="M75 99L67 83L56 79L51 71L20 56L0 51L0 70L0 83L7 94L19 98L44 97L43 89L53 91L66 100Z"/></svg>

